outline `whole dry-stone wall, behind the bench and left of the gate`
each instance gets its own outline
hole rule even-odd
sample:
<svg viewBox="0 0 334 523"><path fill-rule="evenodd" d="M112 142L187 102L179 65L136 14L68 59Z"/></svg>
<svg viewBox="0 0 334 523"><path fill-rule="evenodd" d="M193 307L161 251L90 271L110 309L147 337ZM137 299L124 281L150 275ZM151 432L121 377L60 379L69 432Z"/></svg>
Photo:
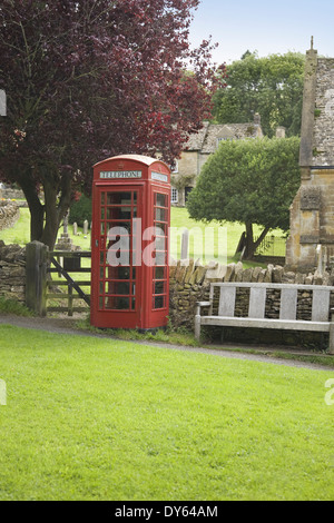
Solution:
<svg viewBox="0 0 334 523"><path fill-rule="evenodd" d="M208 300L209 287L214 282L267 282L304 285L333 285L334 272L295 273L279 265L268 265L266 268L244 268L242 263L219 265L210 263L207 266L197 265L194 260L179 260L170 267L170 307L169 318L174 327L185 327L194 332L195 306L198 300ZM247 315L247 289L238 289L236 314ZM0 240L0 296L26 303L26 249L18 245L4 245ZM215 300L217 307L218 297ZM331 306L334 307L334 286ZM266 316L278 317L279 293L273 290L267 298ZM297 317L310 319L311 294L302 292L298 296ZM209 328L209 335L220 336L222 328ZM224 329L226 339L232 342L279 343L293 345L316 345L322 348L326 335L322 333L286 333L261 329ZM253 339L253 337L255 338ZM277 337L278 336L278 337Z"/></svg>

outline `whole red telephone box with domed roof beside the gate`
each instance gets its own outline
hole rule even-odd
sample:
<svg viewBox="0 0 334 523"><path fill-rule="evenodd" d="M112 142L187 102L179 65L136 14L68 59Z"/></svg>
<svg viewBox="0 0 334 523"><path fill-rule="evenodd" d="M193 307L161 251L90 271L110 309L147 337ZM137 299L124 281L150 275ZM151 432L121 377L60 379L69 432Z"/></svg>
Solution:
<svg viewBox="0 0 334 523"><path fill-rule="evenodd" d="M90 323L150 329L169 313L170 169L116 156L94 166Z"/></svg>

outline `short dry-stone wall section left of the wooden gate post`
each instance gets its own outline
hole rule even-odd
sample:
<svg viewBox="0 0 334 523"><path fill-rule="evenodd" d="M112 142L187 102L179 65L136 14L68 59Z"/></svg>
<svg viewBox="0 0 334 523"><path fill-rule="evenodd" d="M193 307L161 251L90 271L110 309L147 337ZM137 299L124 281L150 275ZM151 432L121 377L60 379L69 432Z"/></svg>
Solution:
<svg viewBox="0 0 334 523"><path fill-rule="evenodd" d="M0 240L0 296L26 303L26 249Z"/></svg>

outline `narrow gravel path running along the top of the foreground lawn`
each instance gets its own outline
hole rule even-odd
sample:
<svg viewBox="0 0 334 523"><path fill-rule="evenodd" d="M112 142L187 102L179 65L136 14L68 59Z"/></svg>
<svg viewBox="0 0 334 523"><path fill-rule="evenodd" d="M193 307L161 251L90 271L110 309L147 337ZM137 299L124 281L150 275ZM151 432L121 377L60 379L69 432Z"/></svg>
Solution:
<svg viewBox="0 0 334 523"><path fill-rule="evenodd" d="M116 337L110 336L109 334L104 334L104 333L89 333L88 330L81 330L78 327L76 327L76 322L77 319L75 318L40 318L40 317L23 317L23 316L13 316L13 315L0 315L0 325L1 324L9 324L9 325L14 325L17 327L23 327L23 328L32 328L32 329L38 329L38 330L48 330L50 333L59 333L59 334L69 334L69 335L77 335L77 336L89 336L89 337L99 337L99 338L107 338L107 339L118 339ZM306 363L306 362L299 362L299 361L294 361L294 359L281 359L274 356L271 356L271 353L274 351L277 351L279 348L279 352L286 352L289 354L303 354L303 355L314 355L312 352L307 351L289 351L286 347L254 347L258 351L263 349L266 354L249 354L249 353L243 353L243 352L234 352L234 351L228 351L228 348L236 348L238 347L239 349L243 348L243 345L235 344L235 345L222 345L222 349L219 348L206 348L206 347L189 347L189 346L183 346L183 345L171 345L171 344L164 344L161 342L156 343L156 342L150 342L150 341L137 341L134 339L131 341L132 343L141 344L141 345L151 345L156 347L161 347L161 348L170 348L174 351L187 351L187 352L194 352L194 353L203 353L203 354L210 354L214 356L220 356L220 357L229 357L229 358L237 358L237 359L249 359L249 361L255 361L255 362L263 362L263 363L269 363L269 364L275 364L275 365L285 365L285 366L291 366L291 367L303 367L303 368L310 368L314 371L330 371L332 372L333 368L321 365L321 364L313 364L313 363ZM1 343L1 341L0 341ZM246 346L244 346L246 348ZM249 346L247 346L249 348Z"/></svg>

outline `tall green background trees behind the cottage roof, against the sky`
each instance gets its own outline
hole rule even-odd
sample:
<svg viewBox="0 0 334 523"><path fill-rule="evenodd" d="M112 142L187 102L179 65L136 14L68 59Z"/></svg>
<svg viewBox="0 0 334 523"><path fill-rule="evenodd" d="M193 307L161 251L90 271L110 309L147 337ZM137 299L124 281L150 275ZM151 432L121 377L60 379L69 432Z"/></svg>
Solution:
<svg viewBox="0 0 334 523"><path fill-rule="evenodd" d="M305 58L301 53L269 55L258 58L246 51L227 66L226 89L214 97L214 116L220 124L253 120L259 112L262 128L273 137L278 126L287 136L301 132Z"/></svg>

